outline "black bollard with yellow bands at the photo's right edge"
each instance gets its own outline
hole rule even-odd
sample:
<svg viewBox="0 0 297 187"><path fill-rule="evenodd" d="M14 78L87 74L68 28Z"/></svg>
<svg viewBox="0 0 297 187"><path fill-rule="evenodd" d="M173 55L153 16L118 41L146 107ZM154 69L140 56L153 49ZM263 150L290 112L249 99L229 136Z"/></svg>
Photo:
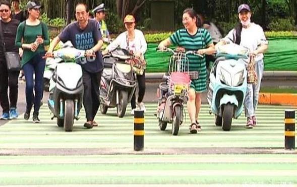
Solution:
<svg viewBox="0 0 297 187"><path fill-rule="evenodd" d="M284 148L295 149L295 111L284 111Z"/></svg>

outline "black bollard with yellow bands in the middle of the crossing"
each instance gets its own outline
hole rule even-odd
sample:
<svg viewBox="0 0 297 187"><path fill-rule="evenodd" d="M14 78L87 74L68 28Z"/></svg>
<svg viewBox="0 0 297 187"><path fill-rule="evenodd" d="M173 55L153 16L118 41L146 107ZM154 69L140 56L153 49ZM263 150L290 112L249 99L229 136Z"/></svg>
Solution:
<svg viewBox="0 0 297 187"><path fill-rule="evenodd" d="M144 111L134 111L134 150L142 151L144 143Z"/></svg>

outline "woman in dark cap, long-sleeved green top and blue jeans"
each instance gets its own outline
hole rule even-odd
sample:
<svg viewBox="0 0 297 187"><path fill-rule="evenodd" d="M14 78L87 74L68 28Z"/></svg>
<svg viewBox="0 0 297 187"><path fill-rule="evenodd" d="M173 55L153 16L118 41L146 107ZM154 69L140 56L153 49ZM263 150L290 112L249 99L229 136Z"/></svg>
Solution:
<svg viewBox="0 0 297 187"><path fill-rule="evenodd" d="M33 122L39 123L38 118L40 100L43 92L43 72L45 67L45 45L49 45L47 26L38 18L40 7L35 2L29 1L26 10L29 14L27 20L22 22L17 30L16 45L23 48L22 69L26 78L26 112L24 119L28 120L33 101L33 87L35 74L35 98Z"/></svg>

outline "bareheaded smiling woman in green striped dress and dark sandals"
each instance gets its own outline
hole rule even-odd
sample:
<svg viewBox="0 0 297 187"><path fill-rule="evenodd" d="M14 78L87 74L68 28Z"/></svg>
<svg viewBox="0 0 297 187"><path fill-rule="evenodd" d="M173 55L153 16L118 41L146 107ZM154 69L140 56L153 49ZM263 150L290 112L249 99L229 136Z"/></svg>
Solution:
<svg viewBox="0 0 297 187"><path fill-rule="evenodd" d="M179 50L196 50L198 54L214 53L214 45L207 30L198 27L197 14L193 9L186 9L183 14L183 24L185 29L177 30L169 38L163 40L158 48L174 44L179 46ZM191 80L188 92L188 111L191 119L190 133L196 134L201 131L198 122L198 114L201 107L201 93L206 91L206 65L205 57L187 55L189 58L189 71L198 71L199 78Z"/></svg>

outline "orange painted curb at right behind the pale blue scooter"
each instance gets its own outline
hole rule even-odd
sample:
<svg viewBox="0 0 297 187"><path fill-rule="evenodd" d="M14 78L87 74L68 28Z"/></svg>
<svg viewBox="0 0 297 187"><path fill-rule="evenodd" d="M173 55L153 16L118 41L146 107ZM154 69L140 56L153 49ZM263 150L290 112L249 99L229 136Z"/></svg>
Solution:
<svg viewBox="0 0 297 187"><path fill-rule="evenodd" d="M260 93L260 104L297 106L297 94L290 93Z"/></svg>

